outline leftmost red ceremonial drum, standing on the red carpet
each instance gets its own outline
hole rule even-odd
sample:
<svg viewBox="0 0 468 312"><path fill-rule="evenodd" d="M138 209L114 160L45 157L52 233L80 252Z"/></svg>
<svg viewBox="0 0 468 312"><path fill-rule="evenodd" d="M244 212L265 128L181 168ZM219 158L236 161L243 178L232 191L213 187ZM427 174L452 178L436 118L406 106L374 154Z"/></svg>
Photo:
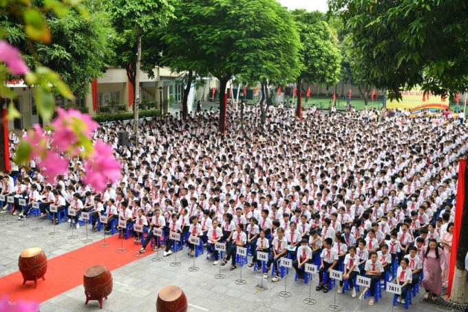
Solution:
<svg viewBox="0 0 468 312"><path fill-rule="evenodd" d="M23 275L23 284L27 280L34 280L34 288L36 288L38 278L45 280L47 257L44 251L38 247L26 249L19 255L18 267Z"/></svg>

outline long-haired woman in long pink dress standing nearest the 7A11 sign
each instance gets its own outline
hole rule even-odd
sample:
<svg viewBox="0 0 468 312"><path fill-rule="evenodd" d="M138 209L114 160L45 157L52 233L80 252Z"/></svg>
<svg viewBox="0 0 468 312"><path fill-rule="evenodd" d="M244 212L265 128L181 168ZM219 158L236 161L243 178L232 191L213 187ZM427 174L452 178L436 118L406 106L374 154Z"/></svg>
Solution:
<svg viewBox="0 0 468 312"><path fill-rule="evenodd" d="M437 295L442 293L442 280L447 271L447 261L445 253L437 246L437 240L431 238L429 244L424 247L424 278L421 285L425 288L424 298L429 298L432 293L432 300L436 300Z"/></svg>

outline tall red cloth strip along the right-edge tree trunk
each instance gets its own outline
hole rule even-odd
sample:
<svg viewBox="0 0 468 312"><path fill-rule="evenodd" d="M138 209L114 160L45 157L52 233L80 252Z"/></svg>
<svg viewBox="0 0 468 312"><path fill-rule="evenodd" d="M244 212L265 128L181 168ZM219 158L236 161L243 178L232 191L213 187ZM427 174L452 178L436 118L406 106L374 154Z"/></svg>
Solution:
<svg viewBox="0 0 468 312"><path fill-rule="evenodd" d="M456 256L458 253L458 241L460 240L460 229L462 227L463 205L465 204L465 170L467 160L460 159L460 167L458 169L458 189L456 191L456 206L454 220L454 236L451 240L451 256L449 265L449 285L447 289L447 298L451 295L451 284L454 282Z"/></svg>

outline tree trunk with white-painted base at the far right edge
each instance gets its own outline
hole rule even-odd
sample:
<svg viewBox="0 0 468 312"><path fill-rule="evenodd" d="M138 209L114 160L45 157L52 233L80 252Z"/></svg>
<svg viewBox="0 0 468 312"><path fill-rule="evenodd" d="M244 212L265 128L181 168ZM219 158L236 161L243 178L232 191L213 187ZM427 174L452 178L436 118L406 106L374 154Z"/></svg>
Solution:
<svg viewBox="0 0 468 312"><path fill-rule="evenodd" d="M467 153L468 154L468 153ZM460 172L460 174L462 174ZM468 169L465 169L465 202L463 202L462 227L460 227L460 238L456 255L454 282L451 286L450 302L468 304L468 287L465 269L465 257L468 253Z"/></svg>

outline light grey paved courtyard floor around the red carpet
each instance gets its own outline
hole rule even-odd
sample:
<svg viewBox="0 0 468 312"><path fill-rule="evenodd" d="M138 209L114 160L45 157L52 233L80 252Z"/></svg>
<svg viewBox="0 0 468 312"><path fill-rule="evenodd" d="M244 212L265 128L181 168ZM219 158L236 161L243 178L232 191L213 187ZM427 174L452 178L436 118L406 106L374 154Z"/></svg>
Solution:
<svg viewBox="0 0 468 312"><path fill-rule="evenodd" d="M3 214L1 218L8 218L9 215ZM11 218L11 217L10 217ZM85 238L85 227L74 229L78 238L68 240L72 229L67 223L61 223L56 227L61 233L58 236L50 236L52 224L47 220L39 220L39 226L43 226L42 231L32 231L36 220L28 218L26 223L30 225L27 228L21 228L22 222L14 225L6 225L6 222L0 222L0 276L8 275L18 270L19 253L26 248L40 247L45 251L47 258L54 258L63 253L83 247L81 242ZM89 237L93 242L103 238L103 232L89 231ZM117 249L119 246L109 248ZM134 250L138 251L135 245ZM246 284L235 284L235 280L240 278L240 267L234 271L229 271L229 266L222 267L222 273L226 275L223 280L214 278L219 273L219 266L213 266L213 260L206 260L205 254L196 258L195 265L200 267L200 271L191 272L189 267L193 265L193 257L187 256L187 247L184 251L179 251L177 259L182 263L181 267L171 267L174 256L163 258L161 262L153 262L151 259L156 253L136 258L134 262L112 271L114 277L114 290L109 295L109 299L103 302L103 310L99 309L98 302L92 301L85 305L85 294L83 286L78 286L66 293L58 295L47 302L41 304L43 312L67 312L67 311L156 311L156 298L160 289L167 285L177 285L181 287L189 300L189 311L329 311L328 305L333 304L334 289L328 294L315 291L318 283L318 275L312 275L312 298L317 300L317 304L308 305L302 301L308 297L309 285L304 281L294 281L294 269L290 269L287 278L287 290L292 293L290 298L281 298L279 291L284 291L284 279L273 283L268 280L268 290L258 291L255 288L255 278L259 276L246 266L242 269L242 278ZM162 257L162 253L160 253ZM19 280L18 282L21 282ZM47 280L45 281L47 282ZM0 284L1 288L6 285ZM358 293L359 295L359 293ZM374 306L369 306L368 301L363 302L362 311L392 311L391 296L385 291L383 298ZM420 287L420 293L413 298L413 305L409 310L414 312L429 311L447 311L443 309L433 309L432 306L421 303L423 289ZM351 298L350 293L337 295L337 304L342 308L341 311L357 312L361 311L361 301L358 298ZM405 311L402 306L396 306L394 311Z"/></svg>

